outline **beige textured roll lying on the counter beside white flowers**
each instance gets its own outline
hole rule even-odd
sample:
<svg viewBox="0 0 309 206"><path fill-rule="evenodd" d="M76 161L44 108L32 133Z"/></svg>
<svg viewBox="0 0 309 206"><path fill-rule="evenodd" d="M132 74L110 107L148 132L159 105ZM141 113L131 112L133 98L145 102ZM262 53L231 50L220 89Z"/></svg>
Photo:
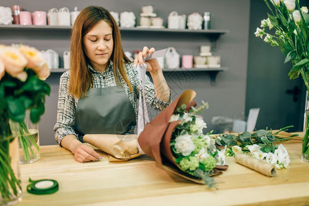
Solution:
<svg viewBox="0 0 309 206"><path fill-rule="evenodd" d="M256 159L243 153L237 153L235 154L235 161L266 176L276 175L275 165L262 161L261 159Z"/></svg>

